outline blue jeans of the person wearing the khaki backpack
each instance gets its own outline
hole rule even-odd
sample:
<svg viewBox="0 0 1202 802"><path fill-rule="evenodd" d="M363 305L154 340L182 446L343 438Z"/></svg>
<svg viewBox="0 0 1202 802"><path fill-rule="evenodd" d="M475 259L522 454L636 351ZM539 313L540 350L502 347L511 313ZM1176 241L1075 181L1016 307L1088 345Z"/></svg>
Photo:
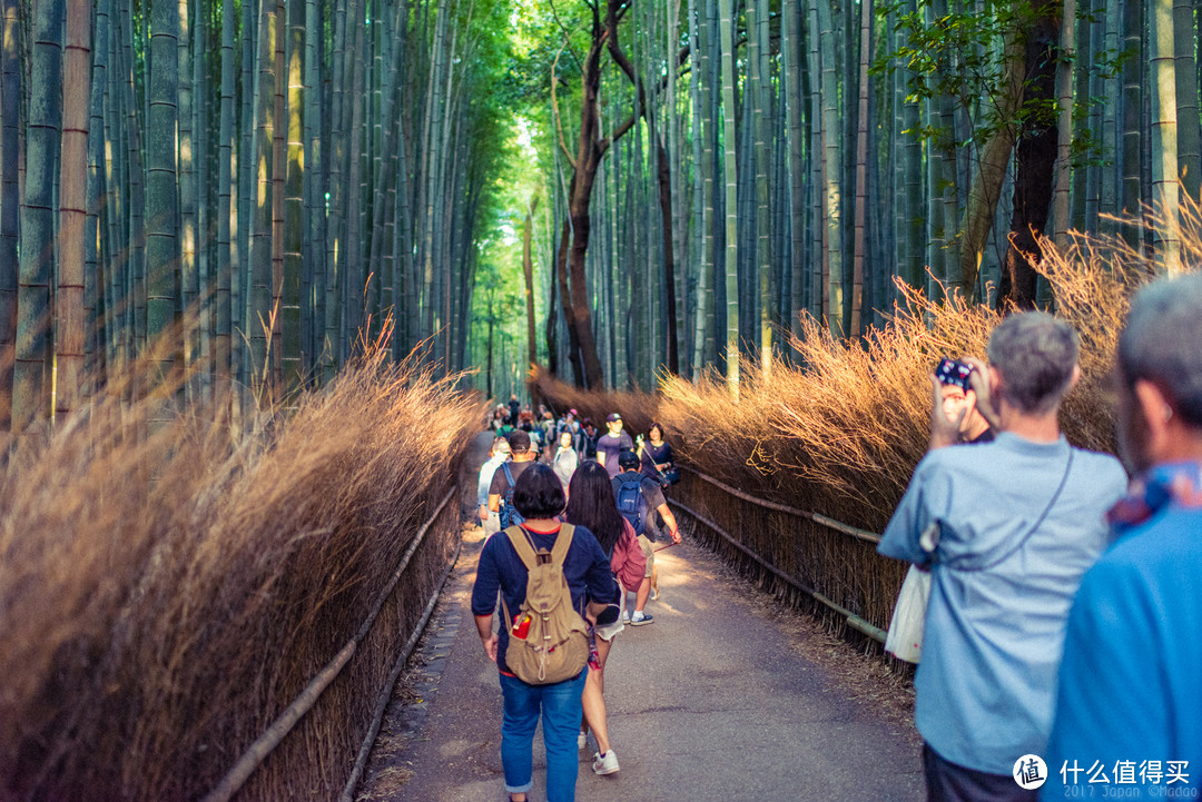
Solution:
<svg viewBox="0 0 1202 802"><path fill-rule="evenodd" d="M534 785L534 731L542 713L542 742L547 748L547 802L576 798L579 760L576 735L581 731L581 694L588 669L573 680L553 686L528 686L501 676L505 714L501 719L501 766L505 790L529 791Z"/></svg>

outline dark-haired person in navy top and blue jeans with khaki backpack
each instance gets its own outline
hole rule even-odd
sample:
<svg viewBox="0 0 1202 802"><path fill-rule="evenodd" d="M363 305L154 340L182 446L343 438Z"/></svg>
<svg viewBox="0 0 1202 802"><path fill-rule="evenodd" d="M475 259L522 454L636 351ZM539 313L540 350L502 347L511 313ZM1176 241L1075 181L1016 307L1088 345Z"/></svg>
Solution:
<svg viewBox="0 0 1202 802"><path fill-rule="evenodd" d="M537 551L563 553L563 581L570 592L573 610L596 621L605 611L617 615L618 587L609 570L609 559L596 538L584 527L560 525L555 516L564 510L564 490L554 472L545 465L530 463L517 480L513 503L525 516L525 522L505 532L505 537L489 538L480 555L476 583L471 588L471 612L476 633L488 658L496 663L501 684L501 766L505 790L511 802L524 802L534 785L534 734L542 722L542 737L547 752L548 802L572 802L576 798L577 750L588 666L582 665L575 676L551 684L532 684L519 680L506 660L513 646L512 638L524 636L519 612L526 599L526 568L514 539L529 543ZM566 551L561 539L567 540ZM557 550L558 545L558 550ZM557 562L555 558L552 558ZM500 594L502 610L514 614L517 622L504 620L493 632L493 615ZM606 616L602 616L605 618ZM517 623L517 628L514 624Z"/></svg>

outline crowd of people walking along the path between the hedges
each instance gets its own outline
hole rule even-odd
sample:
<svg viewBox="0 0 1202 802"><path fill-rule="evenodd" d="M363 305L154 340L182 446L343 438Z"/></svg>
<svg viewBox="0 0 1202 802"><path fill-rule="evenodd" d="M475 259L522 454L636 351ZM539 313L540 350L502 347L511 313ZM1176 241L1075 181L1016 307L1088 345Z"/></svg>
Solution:
<svg viewBox="0 0 1202 802"><path fill-rule="evenodd" d="M493 415L495 435L480 471L476 499L488 540L471 608L484 651L500 671L501 765L512 802L523 802L532 785L531 750L540 718L549 802L575 798L577 752L588 746L590 734L596 743L593 771L619 771L606 724L606 662L627 624L654 623L645 606L659 598L655 544L680 541L664 496L676 475L664 427L653 424L645 438L632 438L619 413L605 423L606 433L597 436L576 409L555 419L546 407L536 414L523 408L516 396ZM581 666L558 682L547 682L543 674L523 676L525 663L507 659L514 640L526 657L529 641L536 638L530 627L538 624L547 628L542 638L561 650L560 656L575 648L571 622L561 634L547 634L558 632L554 614L535 609L546 587L535 571L548 564L560 571L565 600L579 616L579 640L587 645ZM494 633L498 599L501 626ZM554 602L547 604L553 606ZM534 659L541 660L542 671L558 670L559 658L551 656L554 648L546 651Z"/></svg>

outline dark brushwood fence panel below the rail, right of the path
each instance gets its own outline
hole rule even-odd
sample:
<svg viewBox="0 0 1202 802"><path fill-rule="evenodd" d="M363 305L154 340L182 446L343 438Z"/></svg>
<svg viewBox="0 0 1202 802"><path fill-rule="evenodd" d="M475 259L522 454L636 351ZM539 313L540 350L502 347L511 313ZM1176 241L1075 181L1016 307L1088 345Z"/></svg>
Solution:
<svg viewBox="0 0 1202 802"><path fill-rule="evenodd" d="M876 553L881 535L763 501L679 466L668 503L702 543L838 628L883 644L904 565Z"/></svg>

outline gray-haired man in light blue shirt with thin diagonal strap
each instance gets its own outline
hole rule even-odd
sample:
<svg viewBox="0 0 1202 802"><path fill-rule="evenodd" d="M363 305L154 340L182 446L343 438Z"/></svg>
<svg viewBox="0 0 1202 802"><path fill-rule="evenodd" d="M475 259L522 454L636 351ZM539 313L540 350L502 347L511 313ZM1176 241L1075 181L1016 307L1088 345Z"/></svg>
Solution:
<svg viewBox="0 0 1202 802"><path fill-rule="evenodd" d="M932 571L915 720L933 802L1035 800L1012 771L1046 754L1069 606L1126 484L1118 460L1060 433L1078 351L1045 312L999 324L989 365L970 360L996 439L928 453L877 546Z"/></svg>

